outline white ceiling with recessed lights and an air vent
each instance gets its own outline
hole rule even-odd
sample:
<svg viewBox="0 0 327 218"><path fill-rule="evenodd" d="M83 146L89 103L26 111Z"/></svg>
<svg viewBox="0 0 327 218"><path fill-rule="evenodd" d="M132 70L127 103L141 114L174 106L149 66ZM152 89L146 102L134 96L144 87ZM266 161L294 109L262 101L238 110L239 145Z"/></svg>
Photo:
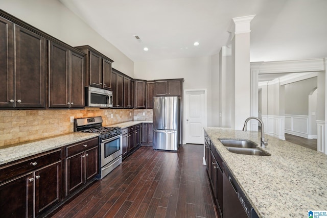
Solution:
<svg viewBox="0 0 327 218"><path fill-rule="evenodd" d="M251 62L327 57L327 0L59 1L135 62L217 54L232 18L254 14Z"/></svg>

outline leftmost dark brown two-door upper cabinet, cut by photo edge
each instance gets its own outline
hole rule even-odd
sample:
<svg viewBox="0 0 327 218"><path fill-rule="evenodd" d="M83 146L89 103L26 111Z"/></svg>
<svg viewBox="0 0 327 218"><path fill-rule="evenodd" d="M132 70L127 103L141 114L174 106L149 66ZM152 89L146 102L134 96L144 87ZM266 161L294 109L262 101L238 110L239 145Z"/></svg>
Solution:
<svg viewBox="0 0 327 218"><path fill-rule="evenodd" d="M0 107L45 108L45 38L2 17L0 37Z"/></svg>

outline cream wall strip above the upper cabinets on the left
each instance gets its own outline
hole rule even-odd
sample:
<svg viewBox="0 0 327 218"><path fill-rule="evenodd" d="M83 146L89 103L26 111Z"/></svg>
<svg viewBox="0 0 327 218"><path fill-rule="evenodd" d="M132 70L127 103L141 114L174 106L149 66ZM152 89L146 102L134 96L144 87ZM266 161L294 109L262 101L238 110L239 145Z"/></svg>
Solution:
<svg viewBox="0 0 327 218"><path fill-rule="evenodd" d="M112 67L133 77L133 61L58 0L0 0L0 8L71 45L90 45L114 62Z"/></svg>

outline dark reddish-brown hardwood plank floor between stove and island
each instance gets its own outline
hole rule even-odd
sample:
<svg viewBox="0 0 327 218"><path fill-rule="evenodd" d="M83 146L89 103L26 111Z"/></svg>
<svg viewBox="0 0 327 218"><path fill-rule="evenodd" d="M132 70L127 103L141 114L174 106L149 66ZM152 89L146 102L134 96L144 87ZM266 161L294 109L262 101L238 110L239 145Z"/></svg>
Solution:
<svg viewBox="0 0 327 218"><path fill-rule="evenodd" d="M52 217L216 217L203 146L141 147Z"/></svg>

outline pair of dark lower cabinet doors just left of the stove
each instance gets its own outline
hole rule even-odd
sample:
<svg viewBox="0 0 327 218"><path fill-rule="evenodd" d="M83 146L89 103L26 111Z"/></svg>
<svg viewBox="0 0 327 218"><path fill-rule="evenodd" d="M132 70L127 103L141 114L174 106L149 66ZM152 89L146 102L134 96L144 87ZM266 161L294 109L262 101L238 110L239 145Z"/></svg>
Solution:
<svg viewBox="0 0 327 218"><path fill-rule="evenodd" d="M66 157L66 196L99 173L99 147Z"/></svg>

